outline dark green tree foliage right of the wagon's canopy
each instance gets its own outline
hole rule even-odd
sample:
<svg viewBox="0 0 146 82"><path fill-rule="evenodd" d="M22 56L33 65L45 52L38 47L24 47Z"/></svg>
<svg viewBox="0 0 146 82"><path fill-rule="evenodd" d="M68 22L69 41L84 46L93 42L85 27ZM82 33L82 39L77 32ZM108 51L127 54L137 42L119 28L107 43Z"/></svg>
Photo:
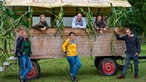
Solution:
<svg viewBox="0 0 146 82"><path fill-rule="evenodd" d="M128 27L136 34L142 35L146 31L146 1L128 1L132 5L130 8L112 7L109 27Z"/></svg>

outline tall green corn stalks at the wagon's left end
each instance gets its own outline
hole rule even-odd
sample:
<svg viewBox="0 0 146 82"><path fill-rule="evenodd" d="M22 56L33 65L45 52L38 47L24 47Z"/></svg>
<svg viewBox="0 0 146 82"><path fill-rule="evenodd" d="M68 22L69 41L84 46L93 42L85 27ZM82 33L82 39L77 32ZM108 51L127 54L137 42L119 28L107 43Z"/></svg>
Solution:
<svg viewBox="0 0 146 82"><path fill-rule="evenodd" d="M16 16L9 7L0 5L0 62L7 61L10 55L14 55L14 29L23 24L22 19L29 12Z"/></svg>

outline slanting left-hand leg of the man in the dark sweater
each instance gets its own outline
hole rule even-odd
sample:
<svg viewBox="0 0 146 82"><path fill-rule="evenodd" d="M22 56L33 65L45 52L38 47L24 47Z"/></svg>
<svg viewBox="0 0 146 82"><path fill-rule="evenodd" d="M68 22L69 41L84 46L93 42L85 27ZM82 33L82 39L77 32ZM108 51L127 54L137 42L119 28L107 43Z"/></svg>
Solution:
<svg viewBox="0 0 146 82"><path fill-rule="evenodd" d="M131 55L130 54L127 54L126 55L126 58L125 58L125 65L124 65L124 69L122 71L122 74L121 76L125 76L128 68L129 68L129 65L130 65L130 60L131 60Z"/></svg>

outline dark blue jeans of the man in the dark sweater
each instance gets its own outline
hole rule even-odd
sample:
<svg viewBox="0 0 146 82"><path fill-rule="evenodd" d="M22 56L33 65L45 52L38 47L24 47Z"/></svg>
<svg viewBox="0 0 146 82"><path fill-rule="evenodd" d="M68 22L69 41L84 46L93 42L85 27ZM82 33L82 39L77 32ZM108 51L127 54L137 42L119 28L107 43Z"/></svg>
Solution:
<svg viewBox="0 0 146 82"><path fill-rule="evenodd" d="M125 65L124 65L124 69L122 71L122 76L125 76L128 68L129 68L131 60L134 61L134 75L138 76L138 55L131 55L131 54L126 54Z"/></svg>

